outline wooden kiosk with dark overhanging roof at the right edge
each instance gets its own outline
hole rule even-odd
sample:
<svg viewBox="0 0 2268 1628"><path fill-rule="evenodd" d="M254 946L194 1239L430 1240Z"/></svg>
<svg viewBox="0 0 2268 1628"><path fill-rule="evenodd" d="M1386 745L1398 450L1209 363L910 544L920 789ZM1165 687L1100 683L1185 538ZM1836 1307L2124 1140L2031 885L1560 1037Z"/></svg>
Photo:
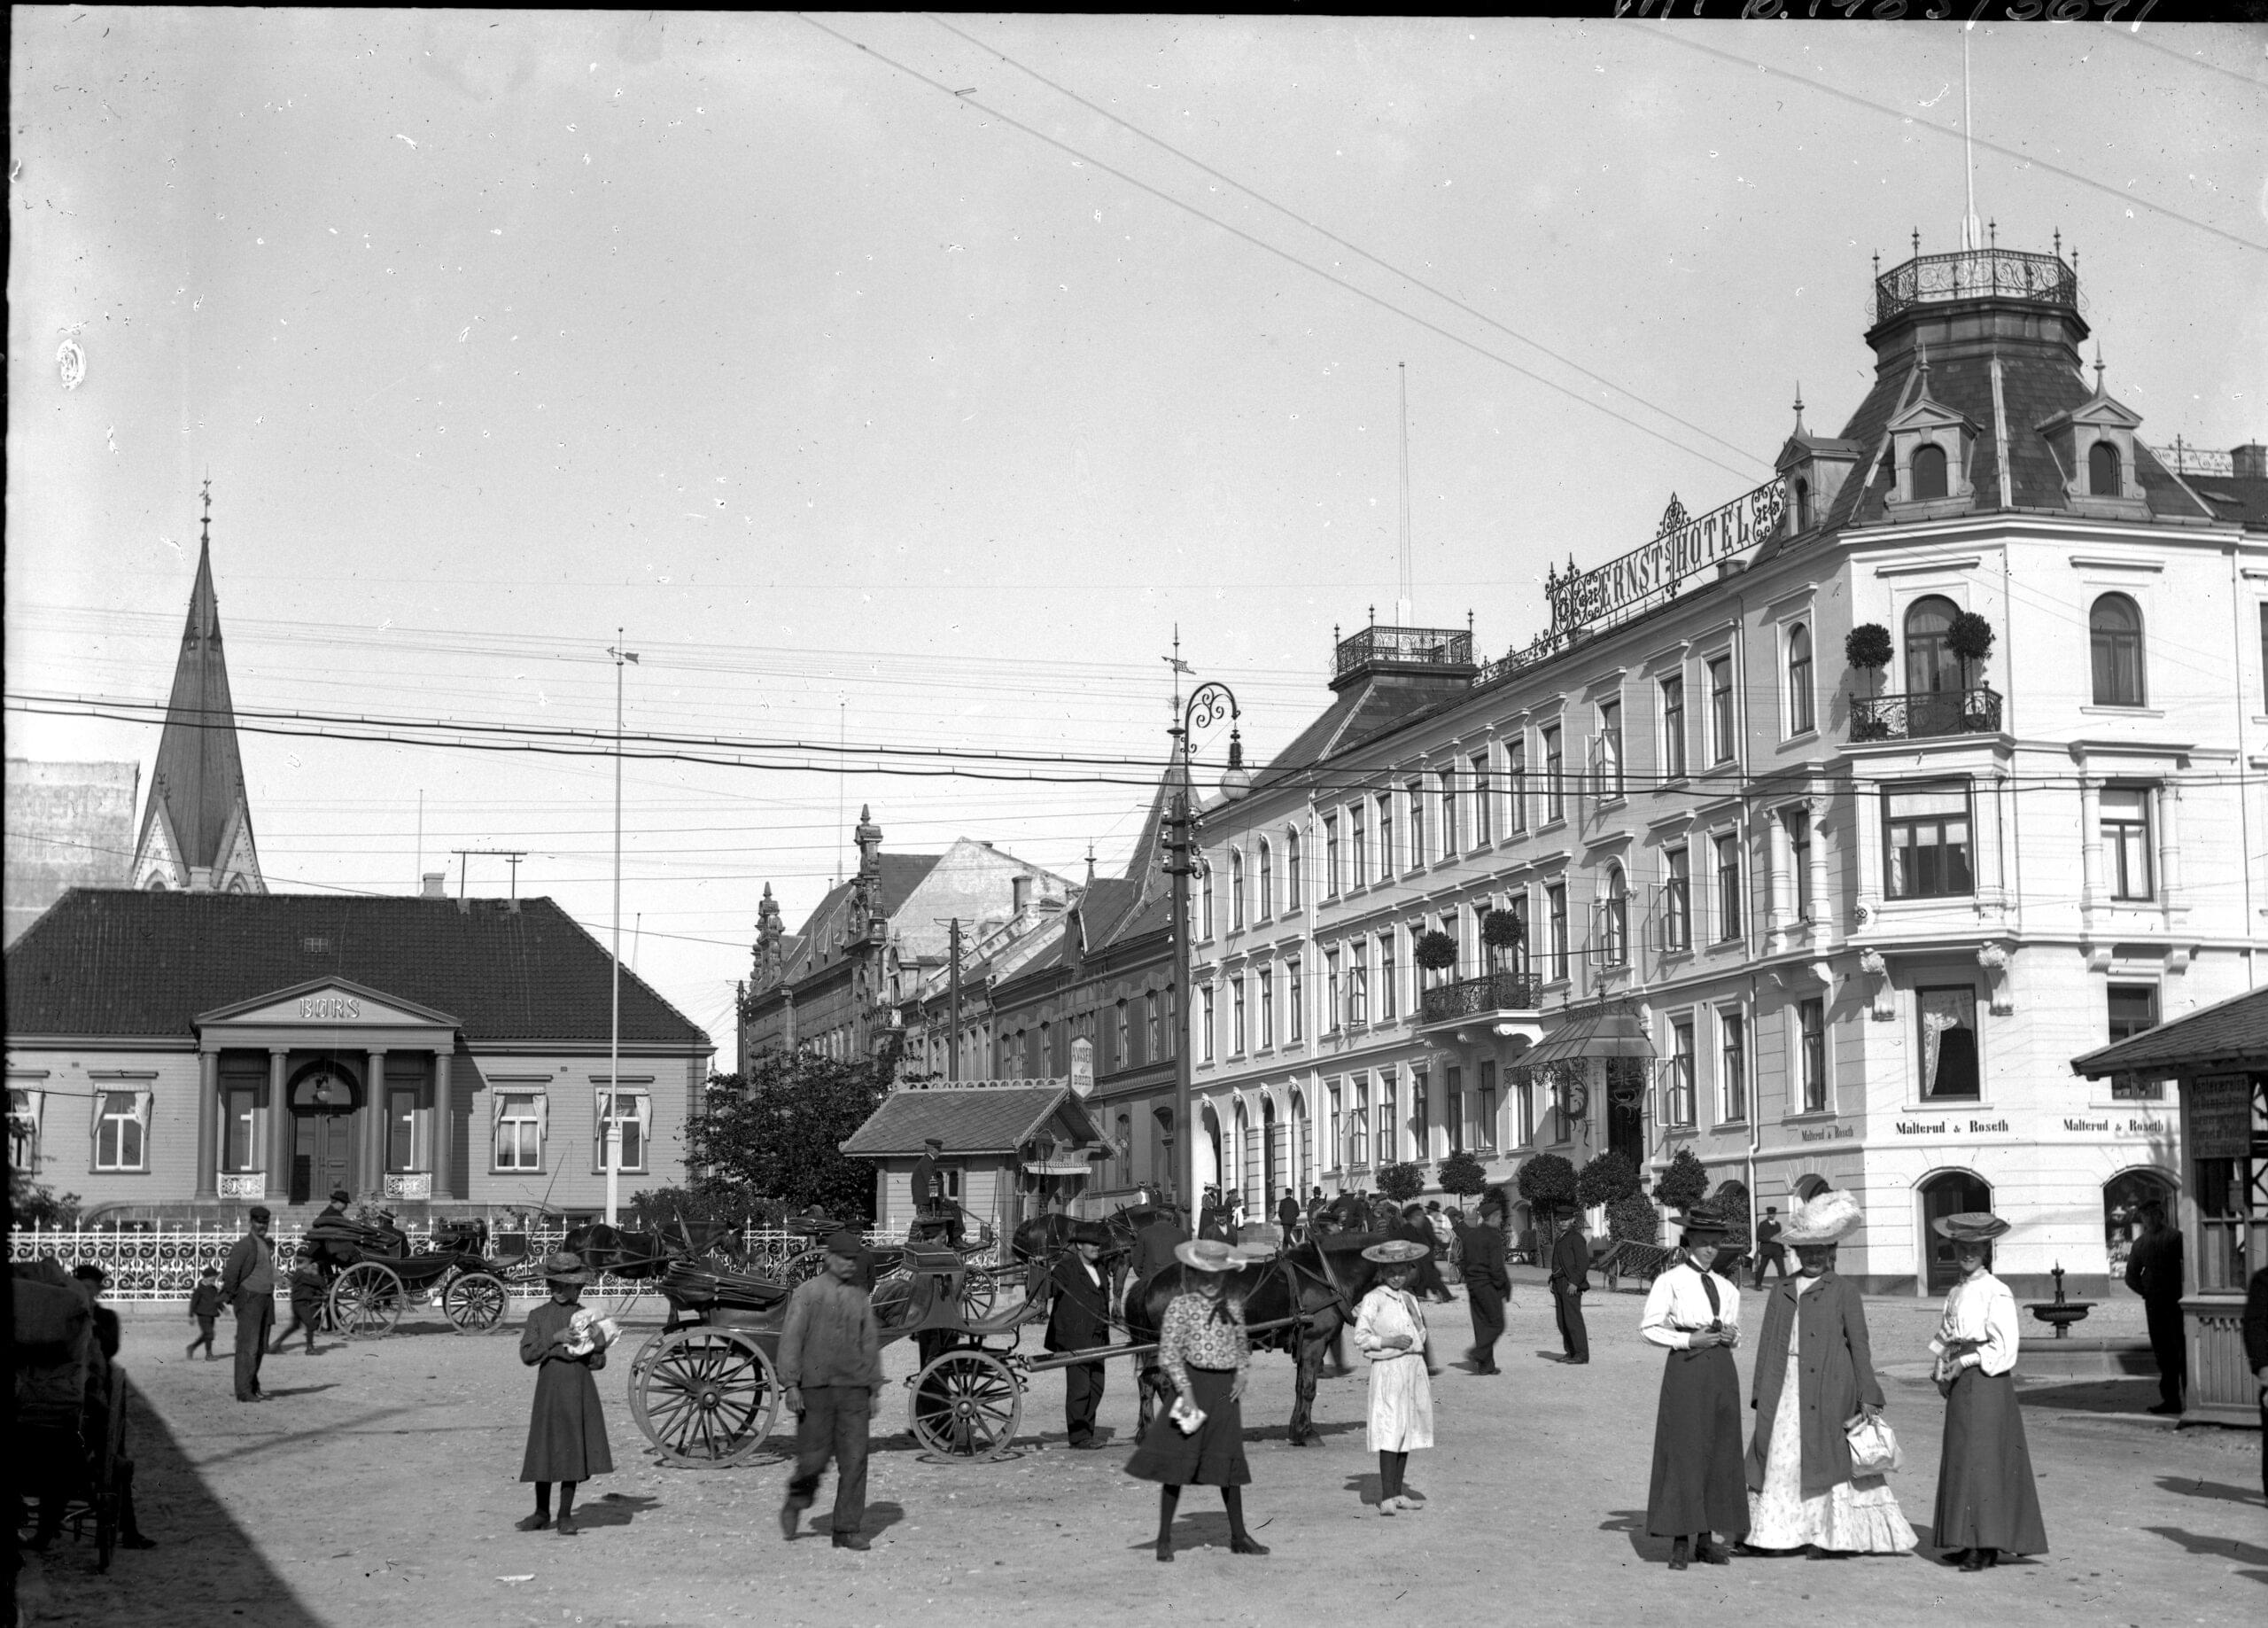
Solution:
<svg viewBox="0 0 2268 1628"><path fill-rule="evenodd" d="M2087 1079L2173 1079L2182 1097L2182 1258L2189 1283L2186 1419L2257 1426L2259 1381L2245 1363L2243 1311L2268 1265L2268 989L2071 1059Z"/></svg>

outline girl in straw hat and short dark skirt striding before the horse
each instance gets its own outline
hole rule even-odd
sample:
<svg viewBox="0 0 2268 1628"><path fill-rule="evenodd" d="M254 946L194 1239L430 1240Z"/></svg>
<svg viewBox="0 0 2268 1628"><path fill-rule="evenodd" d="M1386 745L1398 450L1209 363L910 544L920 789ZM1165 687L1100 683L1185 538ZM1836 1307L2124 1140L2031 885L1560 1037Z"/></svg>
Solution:
<svg viewBox="0 0 2268 1628"><path fill-rule="evenodd" d="M1229 1512L1229 1553L1266 1555L1268 1546L1245 1531L1245 1415L1238 1406L1252 1372L1252 1340L1245 1304L1229 1292L1227 1272L1245 1265L1245 1254L1216 1238L1175 1245L1186 1267L1182 1292L1166 1306L1157 1331L1157 1365L1166 1370L1175 1399L1161 1408L1127 1460L1127 1474L1163 1483L1157 1494L1157 1558L1173 1560L1173 1512L1182 1487L1220 1487Z"/></svg>

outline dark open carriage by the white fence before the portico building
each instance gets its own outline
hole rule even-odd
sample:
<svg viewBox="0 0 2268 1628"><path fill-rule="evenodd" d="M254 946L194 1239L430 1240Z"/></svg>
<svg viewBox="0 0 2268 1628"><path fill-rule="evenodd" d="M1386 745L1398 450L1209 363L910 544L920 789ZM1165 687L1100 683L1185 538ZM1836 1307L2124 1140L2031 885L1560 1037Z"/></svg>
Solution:
<svg viewBox="0 0 2268 1628"><path fill-rule="evenodd" d="M327 1215L308 1227L306 1245L327 1281L331 1329L349 1340L392 1333L413 1304L440 1306L458 1333L488 1333L503 1322L510 1283L533 1281L524 1258L488 1258L481 1220L442 1222L433 1247L413 1254L392 1215L376 1224Z"/></svg>

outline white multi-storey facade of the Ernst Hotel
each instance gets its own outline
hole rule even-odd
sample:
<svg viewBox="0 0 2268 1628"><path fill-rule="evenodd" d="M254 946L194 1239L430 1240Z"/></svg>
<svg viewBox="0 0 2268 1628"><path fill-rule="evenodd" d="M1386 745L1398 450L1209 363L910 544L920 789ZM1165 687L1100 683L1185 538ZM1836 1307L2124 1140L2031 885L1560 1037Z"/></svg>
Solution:
<svg viewBox="0 0 2268 1628"><path fill-rule="evenodd" d="M2084 324L2034 308L2012 333L1994 324L2016 302L1971 304L1984 327L1955 311L1928 354L1966 340L1975 381L1991 361L1998 422L1978 433L1996 465L1912 367L1912 329L1946 315L1923 308L1869 336L1878 395L1912 406L1844 442L1799 424L1789 522L1726 551L1724 574L1481 671L1456 660L1458 630L1343 642L1347 739L1279 760L1200 832L1200 1165L1211 1129L1222 1186L1374 1188L1390 1159L1431 1181L1454 1145L1492 1179L1608 1145L1658 1172L1692 1147L1758 1213L1821 1184L1857 1193L1842 1270L1871 1288L1926 1292L1926 1215L1984 1204L2016 1222L1996 1270L2021 1292L2053 1265L2100 1288L2109 1211L2175 1179L2175 1104L2080 1082L2068 1059L2259 977L2268 803L2245 775L2268 762L2268 537L2155 463L2150 501L2132 497L2132 415L2100 385L2091 417L2059 417L2127 433L2123 469L2093 465L2109 497L2075 474L2059 510L2012 503L2041 467L2089 467L2068 424L2023 424L2014 388L2030 367L2087 395L2062 356ZM2014 474L1935 497L1910 481L1932 438L1984 481ZM1837 501L1842 474L1882 483L1873 508L1855 487ZM1996 633L1960 671L1939 637L1957 612ZM1892 635L1880 682L1844 662L1860 624ZM1424 696L1363 737L1361 685ZM1508 966L1533 993L1479 982L1488 909L1524 916ZM1458 946L1438 980L1415 966L1429 927ZM1424 982L1445 986L1431 1009ZM1619 1116L1592 1066L1563 1118L1517 1061L1601 998L1642 1016L1658 1061Z"/></svg>

